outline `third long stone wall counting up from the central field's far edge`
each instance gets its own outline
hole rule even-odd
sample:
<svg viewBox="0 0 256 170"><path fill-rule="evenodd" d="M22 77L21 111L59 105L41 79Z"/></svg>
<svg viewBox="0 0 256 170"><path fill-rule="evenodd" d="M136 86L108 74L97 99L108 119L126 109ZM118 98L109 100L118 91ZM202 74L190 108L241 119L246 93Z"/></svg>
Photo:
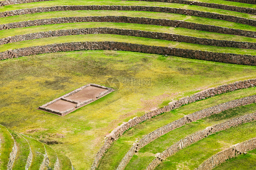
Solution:
<svg viewBox="0 0 256 170"><path fill-rule="evenodd" d="M159 25L159 26L182 27L182 28L196 29L201 31L209 31L209 32L222 33L222 34L247 36L252 38L256 37L256 32L254 31L224 28L219 26L197 24L197 23L191 23L191 22L185 22L185 21L179 21L179 20L127 17L127 16L86 16L86 17L46 18L46 19L0 24L0 30L23 28L23 27L30 27L30 26L41 26L41 25L49 25L49 24L59 24L59 23L78 23L78 22L113 22L113 23L149 24L149 25Z"/></svg>

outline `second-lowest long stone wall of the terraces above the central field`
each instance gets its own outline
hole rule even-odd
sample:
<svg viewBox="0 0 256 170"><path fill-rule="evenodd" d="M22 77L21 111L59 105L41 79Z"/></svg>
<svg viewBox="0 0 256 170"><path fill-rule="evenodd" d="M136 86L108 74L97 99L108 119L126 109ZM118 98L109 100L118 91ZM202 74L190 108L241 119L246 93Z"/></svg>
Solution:
<svg viewBox="0 0 256 170"><path fill-rule="evenodd" d="M68 36L68 35L82 35L82 34L116 34L116 35L138 36L138 37L152 38L152 39L163 39L168 41L187 42L192 44L211 45L211 46L218 46L218 47L256 49L256 43L253 43L253 42L238 42L238 41L228 41L228 40L218 40L218 39L197 38L197 37L184 36L179 34L140 31L140 30L132 30L132 29L106 28L106 27L44 31L44 32L35 32L30 34L9 36L7 38L1 38L0 45L12 43L12 42L32 40L32 39L40 39L40 38L56 37L56 36Z"/></svg>

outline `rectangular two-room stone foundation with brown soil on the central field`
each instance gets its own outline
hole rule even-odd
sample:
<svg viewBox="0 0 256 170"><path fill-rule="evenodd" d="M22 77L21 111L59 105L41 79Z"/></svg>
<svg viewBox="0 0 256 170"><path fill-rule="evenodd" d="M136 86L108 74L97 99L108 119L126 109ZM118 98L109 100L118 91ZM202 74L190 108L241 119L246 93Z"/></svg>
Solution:
<svg viewBox="0 0 256 170"><path fill-rule="evenodd" d="M96 84L88 84L39 106L38 109L64 116L112 91L114 91L112 88Z"/></svg>

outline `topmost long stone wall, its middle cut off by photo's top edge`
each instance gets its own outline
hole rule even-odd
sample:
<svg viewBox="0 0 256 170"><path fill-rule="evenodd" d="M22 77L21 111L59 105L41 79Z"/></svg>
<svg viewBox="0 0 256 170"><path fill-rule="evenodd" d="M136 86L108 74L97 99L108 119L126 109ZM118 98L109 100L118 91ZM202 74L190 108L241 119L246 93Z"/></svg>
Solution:
<svg viewBox="0 0 256 170"><path fill-rule="evenodd" d="M5 1L0 1L0 6L13 5L13 4L24 4L24 3L31 3L31 2L41 2L41 1L49 1L49 0L5 0ZM141 1L141 0L136 0L136 1ZM225 10L230 10L230 11L235 11L235 12L242 12L242 13L256 15L256 9L254 9L254 8L236 7L236 6L207 3L207 2L187 1L187 0L143 0L143 1L188 4L188 5L225 9Z"/></svg>

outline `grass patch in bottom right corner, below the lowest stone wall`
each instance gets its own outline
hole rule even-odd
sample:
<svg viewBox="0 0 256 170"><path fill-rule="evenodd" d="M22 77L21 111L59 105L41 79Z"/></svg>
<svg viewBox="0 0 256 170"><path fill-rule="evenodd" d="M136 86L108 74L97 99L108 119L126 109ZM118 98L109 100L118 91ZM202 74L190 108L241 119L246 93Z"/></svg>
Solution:
<svg viewBox="0 0 256 170"><path fill-rule="evenodd" d="M248 151L246 155L238 155L218 165L214 170L251 170L256 169L256 150Z"/></svg>

